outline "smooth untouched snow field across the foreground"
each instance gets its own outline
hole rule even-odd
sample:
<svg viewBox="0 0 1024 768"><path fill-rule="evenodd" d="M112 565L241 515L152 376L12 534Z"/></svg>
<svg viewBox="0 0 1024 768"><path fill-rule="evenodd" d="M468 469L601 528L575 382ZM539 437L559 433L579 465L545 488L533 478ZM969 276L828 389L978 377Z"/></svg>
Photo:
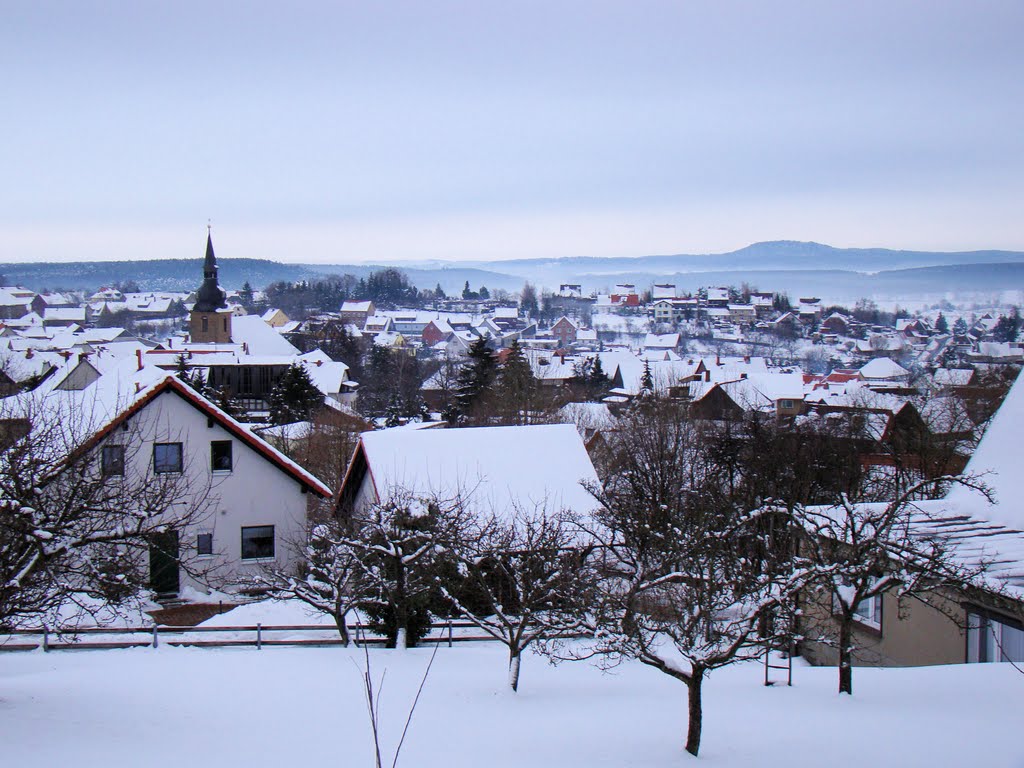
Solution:
<svg viewBox="0 0 1024 768"><path fill-rule="evenodd" d="M370 652L375 676L386 670L389 748L430 652ZM341 648L3 653L0 764L369 768L362 664ZM693 762L685 689L660 673L530 655L514 694L501 646L441 647L399 765L1024 767L1024 675L1010 665L857 670L852 698L831 669L796 669L794 688L762 674L712 675Z"/></svg>

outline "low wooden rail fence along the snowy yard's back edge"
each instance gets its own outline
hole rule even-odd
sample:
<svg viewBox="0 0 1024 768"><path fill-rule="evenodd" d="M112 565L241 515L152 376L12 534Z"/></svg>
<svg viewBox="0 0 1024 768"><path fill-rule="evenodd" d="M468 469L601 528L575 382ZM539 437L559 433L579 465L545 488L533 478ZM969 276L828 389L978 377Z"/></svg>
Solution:
<svg viewBox="0 0 1024 768"><path fill-rule="evenodd" d="M447 643L451 647L453 643L470 642L480 640L494 640L487 634L455 634L455 630L478 629L472 622L440 622L430 625L430 633L420 642L423 644ZM377 634L368 634L370 628L365 624L348 625L348 631L356 645L384 645L387 638ZM333 633L333 637L289 637L274 638L266 635L279 633ZM337 635L337 629L331 625L247 625L239 627L164 627L153 625L152 627L87 627L73 632L54 632L46 627L16 629L0 632L0 651L18 650L109 650L116 648L157 648L161 643L172 646L190 646L194 648L234 648L234 647L255 647L257 650L267 646L309 646L326 647L332 645L344 645L341 637ZM186 635L197 635L204 633L246 633L250 637L232 637L218 639L200 639L195 637L184 637ZM434 633L431 635L431 633ZM108 637L134 636L124 640L94 640L79 642L79 636L103 635ZM144 635L145 637L139 637ZM7 642L12 638L37 638L35 642ZM57 639L54 640L53 638ZM73 640L62 640L60 638L72 637Z"/></svg>

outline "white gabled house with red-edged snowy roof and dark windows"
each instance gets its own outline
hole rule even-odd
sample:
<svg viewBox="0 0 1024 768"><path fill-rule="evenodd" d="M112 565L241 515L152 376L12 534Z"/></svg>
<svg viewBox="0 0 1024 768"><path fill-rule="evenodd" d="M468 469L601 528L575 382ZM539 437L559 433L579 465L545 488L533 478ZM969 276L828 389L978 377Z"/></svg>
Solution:
<svg viewBox="0 0 1024 768"><path fill-rule="evenodd" d="M7 398L6 415L20 408L36 419L59 420L68 449L94 457L111 482L173 485L172 509L199 510L180 536L151 549L158 594L230 588L267 564L291 565L310 505L331 496L317 478L155 367L127 360L83 389L54 389L41 400L32 394ZM206 577L194 578L200 571Z"/></svg>

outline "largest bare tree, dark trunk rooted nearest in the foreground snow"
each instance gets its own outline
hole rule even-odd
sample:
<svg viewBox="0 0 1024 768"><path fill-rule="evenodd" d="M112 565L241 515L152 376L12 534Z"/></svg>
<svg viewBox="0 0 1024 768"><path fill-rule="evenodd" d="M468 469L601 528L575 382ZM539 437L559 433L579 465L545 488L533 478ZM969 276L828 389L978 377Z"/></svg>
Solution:
<svg viewBox="0 0 1024 768"><path fill-rule="evenodd" d="M591 534L602 578L593 651L635 658L683 682L687 752L700 746L701 686L712 671L761 655L803 574L765 536L766 510L744 511L712 454L711 435L650 400L617 433Z"/></svg>

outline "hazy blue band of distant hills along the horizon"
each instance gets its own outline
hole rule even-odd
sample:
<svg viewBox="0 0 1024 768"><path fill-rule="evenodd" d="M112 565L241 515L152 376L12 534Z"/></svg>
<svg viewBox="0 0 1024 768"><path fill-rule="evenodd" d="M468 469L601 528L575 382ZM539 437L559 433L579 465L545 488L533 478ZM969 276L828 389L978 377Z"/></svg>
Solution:
<svg viewBox="0 0 1024 768"><path fill-rule="evenodd" d="M275 281L311 280L325 274L366 276L381 264L285 264L263 259L221 258L220 280L228 290L248 281L264 288ZM755 243L722 254L676 254L630 258L577 257L506 259L488 262L410 262L396 264L420 288L440 285L458 293L468 281L473 290L518 292L525 281L557 290L580 283L585 291L615 283L641 290L655 282L695 290L745 282L766 291L818 295L846 300L871 295L1024 290L1024 253L1019 251L893 251L884 248L834 248L820 243ZM8 284L33 290L95 290L132 280L143 290L190 291L199 286L201 259L0 264Z"/></svg>

